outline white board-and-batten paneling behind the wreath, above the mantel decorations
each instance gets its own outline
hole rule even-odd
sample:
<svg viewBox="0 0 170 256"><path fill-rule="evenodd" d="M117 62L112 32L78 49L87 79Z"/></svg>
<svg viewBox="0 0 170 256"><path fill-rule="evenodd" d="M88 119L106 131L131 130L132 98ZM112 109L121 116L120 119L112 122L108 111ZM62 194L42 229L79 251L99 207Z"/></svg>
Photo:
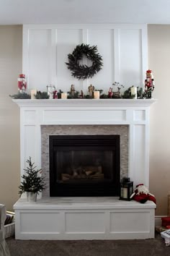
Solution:
<svg viewBox="0 0 170 256"><path fill-rule="evenodd" d="M102 70L89 80L77 80L66 66L68 54L81 43L97 46L103 59ZM28 89L46 90L53 84L68 91L73 84L87 93L93 84L107 93L115 81L125 88L142 87L147 55L147 25L23 25L22 72Z"/></svg>

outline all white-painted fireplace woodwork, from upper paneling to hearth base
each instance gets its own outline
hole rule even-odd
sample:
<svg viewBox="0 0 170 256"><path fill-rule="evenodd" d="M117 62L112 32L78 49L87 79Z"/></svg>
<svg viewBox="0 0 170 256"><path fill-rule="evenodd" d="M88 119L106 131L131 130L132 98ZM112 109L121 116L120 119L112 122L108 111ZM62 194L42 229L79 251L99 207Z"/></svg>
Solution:
<svg viewBox="0 0 170 256"><path fill-rule="evenodd" d="M68 54L81 43L97 46L102 70L77 80L67 69ZM147 65L146 25L24 25L23 69L28 89L49 84L67 92L90 84L107 93L113 82L142 87ZM84 63L91 65L86 58ZM123 91L123 90L122 90ZM154 100L13 100L20 108L21 175L31 155L41 166L42 125L128 125L128 176L149 182L149 108ZM148 239L154 237L153 202L118 198L20 198L14 205L16 239ZM134 223L135 224L134 226Z"/></svg>

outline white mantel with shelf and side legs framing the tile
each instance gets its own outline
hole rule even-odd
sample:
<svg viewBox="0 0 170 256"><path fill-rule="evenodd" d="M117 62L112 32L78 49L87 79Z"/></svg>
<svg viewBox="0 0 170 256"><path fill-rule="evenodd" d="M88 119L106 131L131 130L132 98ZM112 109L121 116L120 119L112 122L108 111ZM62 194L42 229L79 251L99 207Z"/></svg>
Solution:
<svg viewBox="0 0 170 256"><path fill-rule="evenodd" d="M21 175L32 156L41 166L41 125L129 126L128 174L149 186L149 108L154 99L13 100L20 107Z"/></svg>

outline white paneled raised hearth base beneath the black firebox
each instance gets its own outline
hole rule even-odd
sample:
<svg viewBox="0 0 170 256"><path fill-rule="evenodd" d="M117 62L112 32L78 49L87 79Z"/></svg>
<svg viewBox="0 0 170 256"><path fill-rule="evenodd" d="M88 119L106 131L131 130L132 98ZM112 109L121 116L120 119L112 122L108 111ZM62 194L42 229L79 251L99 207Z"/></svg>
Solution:
<svg viewBox="0 0 170 256"><path fill-rule="evenodd" d="M156 205L117 197L42 197L19 199L15 239L150 239Z"/></svg>

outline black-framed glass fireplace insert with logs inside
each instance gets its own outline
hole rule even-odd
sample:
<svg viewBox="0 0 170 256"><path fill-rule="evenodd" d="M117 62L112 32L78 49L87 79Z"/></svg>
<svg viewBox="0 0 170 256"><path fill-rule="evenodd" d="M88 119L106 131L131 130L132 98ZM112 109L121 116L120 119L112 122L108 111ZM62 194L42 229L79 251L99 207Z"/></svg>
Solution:
<svg viewBox="0 0 170 256"><path fill-rule="evenodd" d="M120 195L120 135L51 135L50 197Z"/></svg>

